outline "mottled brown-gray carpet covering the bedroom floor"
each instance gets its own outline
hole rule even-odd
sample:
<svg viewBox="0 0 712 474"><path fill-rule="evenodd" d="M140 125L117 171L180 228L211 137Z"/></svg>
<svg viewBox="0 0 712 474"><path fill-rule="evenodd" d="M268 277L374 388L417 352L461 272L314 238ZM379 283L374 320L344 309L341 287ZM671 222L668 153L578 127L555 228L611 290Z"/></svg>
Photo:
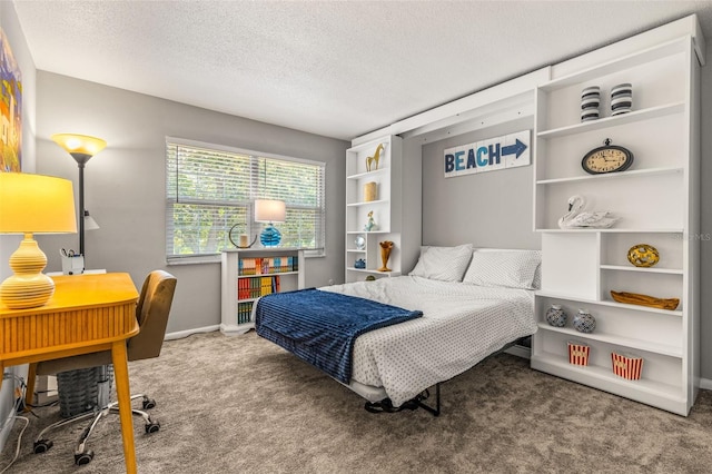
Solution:
<svg viewBox="0 0 712 474"><path fill-rule="evenodd" d="M156 398L161 423L135 418L139 473L706 473L712 466L712 393L689 417L530 369L508 354L443 384L443 414L372 414L364 399L254 332L198 334L129 364L132 393ZM36 408L9 473L125 472L118 416L73 464L82 426L32 440L59 417ZM16 422L0 455L12 455Z"/></svg>

